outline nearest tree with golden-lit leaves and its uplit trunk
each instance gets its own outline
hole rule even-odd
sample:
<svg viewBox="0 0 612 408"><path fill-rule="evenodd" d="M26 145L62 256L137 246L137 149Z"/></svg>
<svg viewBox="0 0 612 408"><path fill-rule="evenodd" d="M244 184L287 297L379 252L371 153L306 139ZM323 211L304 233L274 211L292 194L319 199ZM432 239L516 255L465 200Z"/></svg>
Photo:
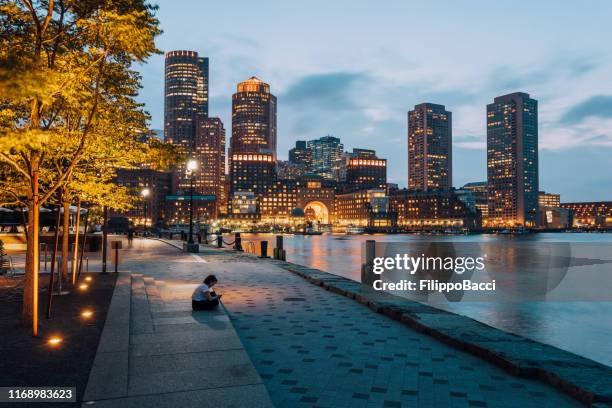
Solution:
<svg viewBox="0 0 612 408"><path fill-rule="evenodd" d="M30 215L22 314L35 336L39 208L108 134L109 119L126 134L132 123L122 120L142 115L131 65L158 52L155 10L145 0L0 0L0 162L13 176L2 190L23 187ZM112 117L118 105L128 112Z"/></svg>

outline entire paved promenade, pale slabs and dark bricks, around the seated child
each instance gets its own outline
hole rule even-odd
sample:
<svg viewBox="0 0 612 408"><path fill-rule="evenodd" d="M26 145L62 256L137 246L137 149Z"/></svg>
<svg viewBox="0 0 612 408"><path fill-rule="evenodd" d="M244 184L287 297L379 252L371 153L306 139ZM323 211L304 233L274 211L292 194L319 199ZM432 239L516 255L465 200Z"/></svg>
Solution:
<svg viewBox="0 0 612 408"><path fill-rule="evenodd" d="M129 340L101 341L86 391L96 406L580 406L273 261L208 247L184 254L156 240L123 254L130 307L118 286L107 326L128 320ZM192 314L191 290L210 273L226 310ZM113 308L130 318L114 321ZM122 380L104 389L109 378Z"/></svg>

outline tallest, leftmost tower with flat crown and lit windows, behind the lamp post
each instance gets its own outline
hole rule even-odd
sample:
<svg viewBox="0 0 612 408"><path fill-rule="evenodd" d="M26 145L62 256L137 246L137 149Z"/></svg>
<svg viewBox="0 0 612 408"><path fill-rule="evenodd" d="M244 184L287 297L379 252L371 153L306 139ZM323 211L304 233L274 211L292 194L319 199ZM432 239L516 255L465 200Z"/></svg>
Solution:
<svg viewBox="0 0 612 408"><path fill-rule="evenodd" d="M198 118L208 117L208 81L208 58L195 51L166 53L164 140L181 146L189 157L196 151ZM173 193L178 195L190 188L185 164L175 171L178 183Z"/></svg>

